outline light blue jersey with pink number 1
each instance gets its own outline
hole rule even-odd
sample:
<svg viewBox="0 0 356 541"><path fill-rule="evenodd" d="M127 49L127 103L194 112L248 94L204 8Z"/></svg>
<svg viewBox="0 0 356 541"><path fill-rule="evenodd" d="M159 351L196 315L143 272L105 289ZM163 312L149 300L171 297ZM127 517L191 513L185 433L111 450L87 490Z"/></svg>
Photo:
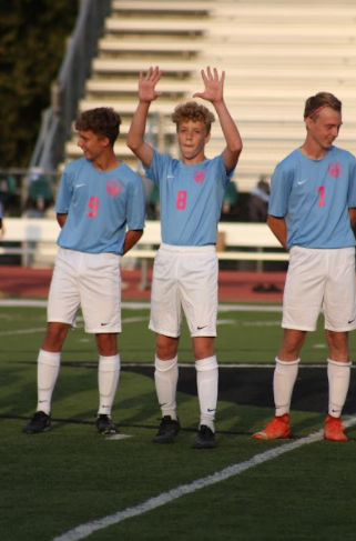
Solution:
<svg viewBox="0 0 356 541"><path fill-rule="evenodd" d="M356 208L352 153L330 147L322 160L312 160L296 149L277 164L268 214L285 218L288 249L354 247L349 208Z"/></svg>

